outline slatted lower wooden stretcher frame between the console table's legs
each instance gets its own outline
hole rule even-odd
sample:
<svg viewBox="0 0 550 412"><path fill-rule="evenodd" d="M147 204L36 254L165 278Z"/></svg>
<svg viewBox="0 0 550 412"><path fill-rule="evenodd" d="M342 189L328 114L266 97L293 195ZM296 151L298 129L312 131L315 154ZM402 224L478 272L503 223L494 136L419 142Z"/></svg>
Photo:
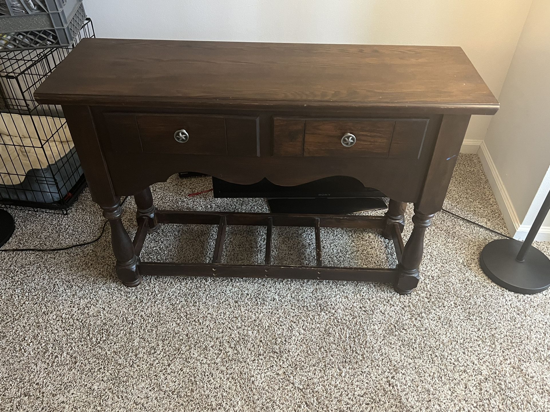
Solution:
<svg viewBox="0 0 550 412"><path fill-rule="evenodd" d="M159 224L218 225L216 246L212 263L156 263L139 262L140 276L212 276L212 277L273 277L277 279L321 279L394 283L397 269L337 268L322 266L321 227L342 227L354 229L386 228L382 216L333 216L294 215L274 213L224 213L158 210ZM263 265L236 265L219 263L225 241L227 225L266 226L266 253ZM271 265L271 238L273 226L298 226L315 228L316 266ZM397 260L403 252L402 227L390 226ZM149 219L139 219L133 245L140 255L149 230Z"/></svg>

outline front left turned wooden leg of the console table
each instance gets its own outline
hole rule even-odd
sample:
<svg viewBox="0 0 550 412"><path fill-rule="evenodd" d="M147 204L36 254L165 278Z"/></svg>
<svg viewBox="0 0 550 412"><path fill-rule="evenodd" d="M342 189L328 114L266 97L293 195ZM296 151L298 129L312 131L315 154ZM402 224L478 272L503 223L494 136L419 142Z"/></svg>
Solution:
<svg viewBox="0 0 550 412"><path fill-rule="evenodd" d="M113 207L103 208L103 216L109 220L111 226L111 243L114 256L117 258L118 279L126 286L138 286L141 283L141 275L138 271L139 259L134 253L130 236L120 220L122 216L120 201Z"/></svg>

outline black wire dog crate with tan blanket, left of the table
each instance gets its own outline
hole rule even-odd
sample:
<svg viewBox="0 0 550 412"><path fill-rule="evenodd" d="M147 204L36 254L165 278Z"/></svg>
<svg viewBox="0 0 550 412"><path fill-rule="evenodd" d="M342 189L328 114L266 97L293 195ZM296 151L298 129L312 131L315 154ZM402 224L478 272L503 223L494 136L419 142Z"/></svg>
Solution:
<svg viewBox="0 0 550 412"><path fill-rule="evenodd" d="M32 96L85 37L90 19L70 46L0 52L0 204L65 214L86 186L61 107Z"/></svg>

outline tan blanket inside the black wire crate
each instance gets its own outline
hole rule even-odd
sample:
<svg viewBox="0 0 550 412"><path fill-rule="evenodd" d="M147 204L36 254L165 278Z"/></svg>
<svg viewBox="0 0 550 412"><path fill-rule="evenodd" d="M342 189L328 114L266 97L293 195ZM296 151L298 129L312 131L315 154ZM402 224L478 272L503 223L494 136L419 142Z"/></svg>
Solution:
<svg viewBox="0 0 550 412"><path fill-rule="evenodd" d="M2 113L0 183L18 185L31 169L56 163L74 147L65 119Z"/></svg>

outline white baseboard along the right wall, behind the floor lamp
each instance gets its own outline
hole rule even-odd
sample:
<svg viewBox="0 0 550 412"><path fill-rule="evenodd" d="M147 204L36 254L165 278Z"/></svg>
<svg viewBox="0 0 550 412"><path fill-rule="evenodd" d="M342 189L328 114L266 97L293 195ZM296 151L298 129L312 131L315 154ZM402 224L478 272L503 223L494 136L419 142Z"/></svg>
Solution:
<svg viewBox="0 0 550 412"><path fill-rule="evenodd" d="M493 190L494 197L497 199L498 206L502 212L508 231L515 239L524 240L527 232L529 232L530 226L521 225L518 213L516 213L514 204L511 202L508 191L504 187L504 182L498 173L497 167L491 158L491 154L489 153L485 142L481 142L480 149L477 154L481 159L483 171L485 171L489 185L491 185ZM541 227L535 240L550 241L550 227Z"/></svg>

